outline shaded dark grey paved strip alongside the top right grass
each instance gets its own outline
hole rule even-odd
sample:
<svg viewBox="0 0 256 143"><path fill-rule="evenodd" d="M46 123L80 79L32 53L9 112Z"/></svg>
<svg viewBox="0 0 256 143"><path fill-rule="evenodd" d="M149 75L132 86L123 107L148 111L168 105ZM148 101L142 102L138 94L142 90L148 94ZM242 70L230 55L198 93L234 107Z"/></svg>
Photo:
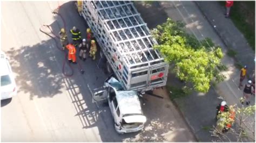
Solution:
<svg viewBox="0 0 256 143"><path fill-rule="evenodd" d="M255 56L254 51L250 45L248 45L244 35L237 29L237 27L235 27L232 20L230 18L225 18L223 14L226 11L225 6L220 5L219 2L211 1L196 1L195 3L198 5L198 9L203 13L208 22L212 26L216 26L214 30L221 40L223 40L225 46L237 52L235 59L242 65L247 65L247 71L251 78L255 67L253 61ZM211 9L209 9L209 6L211 6Z"/></svg>

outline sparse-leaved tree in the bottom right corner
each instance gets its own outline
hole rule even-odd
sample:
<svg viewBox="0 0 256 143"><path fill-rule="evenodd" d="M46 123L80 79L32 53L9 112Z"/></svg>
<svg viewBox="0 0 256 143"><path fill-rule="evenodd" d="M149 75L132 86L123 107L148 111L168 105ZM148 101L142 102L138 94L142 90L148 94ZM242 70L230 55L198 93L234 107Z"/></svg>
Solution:
<svg viewBox="0 0 256 143"><path fill-rule="evenodd" d="M230 133L233 134L235 140L231 139L231 137L228 137L228 135L220 130L232 122L230 112L223 112L218 116L219 120L217 121L216 127L213 128L212 135L218 137L221 141L224 141L224 139L229 141L245 141L245 137L251 141L255 141L255 118L253 116L255 113L255 105L247 107L242 106L239 108L235 104L230 106L230 110L235 112L233 123L237 124L237 126L230 128Z"/></svg>

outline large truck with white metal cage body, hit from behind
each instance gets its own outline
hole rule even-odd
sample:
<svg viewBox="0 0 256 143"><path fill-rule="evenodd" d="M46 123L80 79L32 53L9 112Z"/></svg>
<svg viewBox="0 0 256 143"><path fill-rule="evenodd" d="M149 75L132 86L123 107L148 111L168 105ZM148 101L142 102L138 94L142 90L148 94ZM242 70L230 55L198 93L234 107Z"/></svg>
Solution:
<svg viewBox="0 0 256 143"><path fill-rule="evenodd" d="M78 1L77 8L125 90L140 93L166 85L169 65L153 45L147 24L131 1Z"/></svg>

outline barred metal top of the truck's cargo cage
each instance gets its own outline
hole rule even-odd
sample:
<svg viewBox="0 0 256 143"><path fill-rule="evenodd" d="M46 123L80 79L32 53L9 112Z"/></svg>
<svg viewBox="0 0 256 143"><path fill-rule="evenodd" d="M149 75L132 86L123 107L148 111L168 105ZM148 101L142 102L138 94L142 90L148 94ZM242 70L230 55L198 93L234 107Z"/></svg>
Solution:
<svg viewBox="0 0 256 143"><path fill-rule="evenodd" d="M93 28L99 32L100 42L107 45L107 50L111 45L116 46L117 55L124 59L126 67L163 60L159 52L153 49L157 42L131 1L93 0L87 4L91 4L97 12L98 22Z"/></svg>

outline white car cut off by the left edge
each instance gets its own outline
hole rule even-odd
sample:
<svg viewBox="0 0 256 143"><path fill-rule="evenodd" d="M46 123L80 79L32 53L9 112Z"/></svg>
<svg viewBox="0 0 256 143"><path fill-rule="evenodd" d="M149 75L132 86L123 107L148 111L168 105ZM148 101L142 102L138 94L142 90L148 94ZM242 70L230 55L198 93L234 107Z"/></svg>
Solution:
<svg viewBox="0 0 256 143"><path fill-rule="evenodd" d="M4 52L1 53L0 74L1 74L1 100L12 98L17 94L17 87L8 58Z"/></svg>

